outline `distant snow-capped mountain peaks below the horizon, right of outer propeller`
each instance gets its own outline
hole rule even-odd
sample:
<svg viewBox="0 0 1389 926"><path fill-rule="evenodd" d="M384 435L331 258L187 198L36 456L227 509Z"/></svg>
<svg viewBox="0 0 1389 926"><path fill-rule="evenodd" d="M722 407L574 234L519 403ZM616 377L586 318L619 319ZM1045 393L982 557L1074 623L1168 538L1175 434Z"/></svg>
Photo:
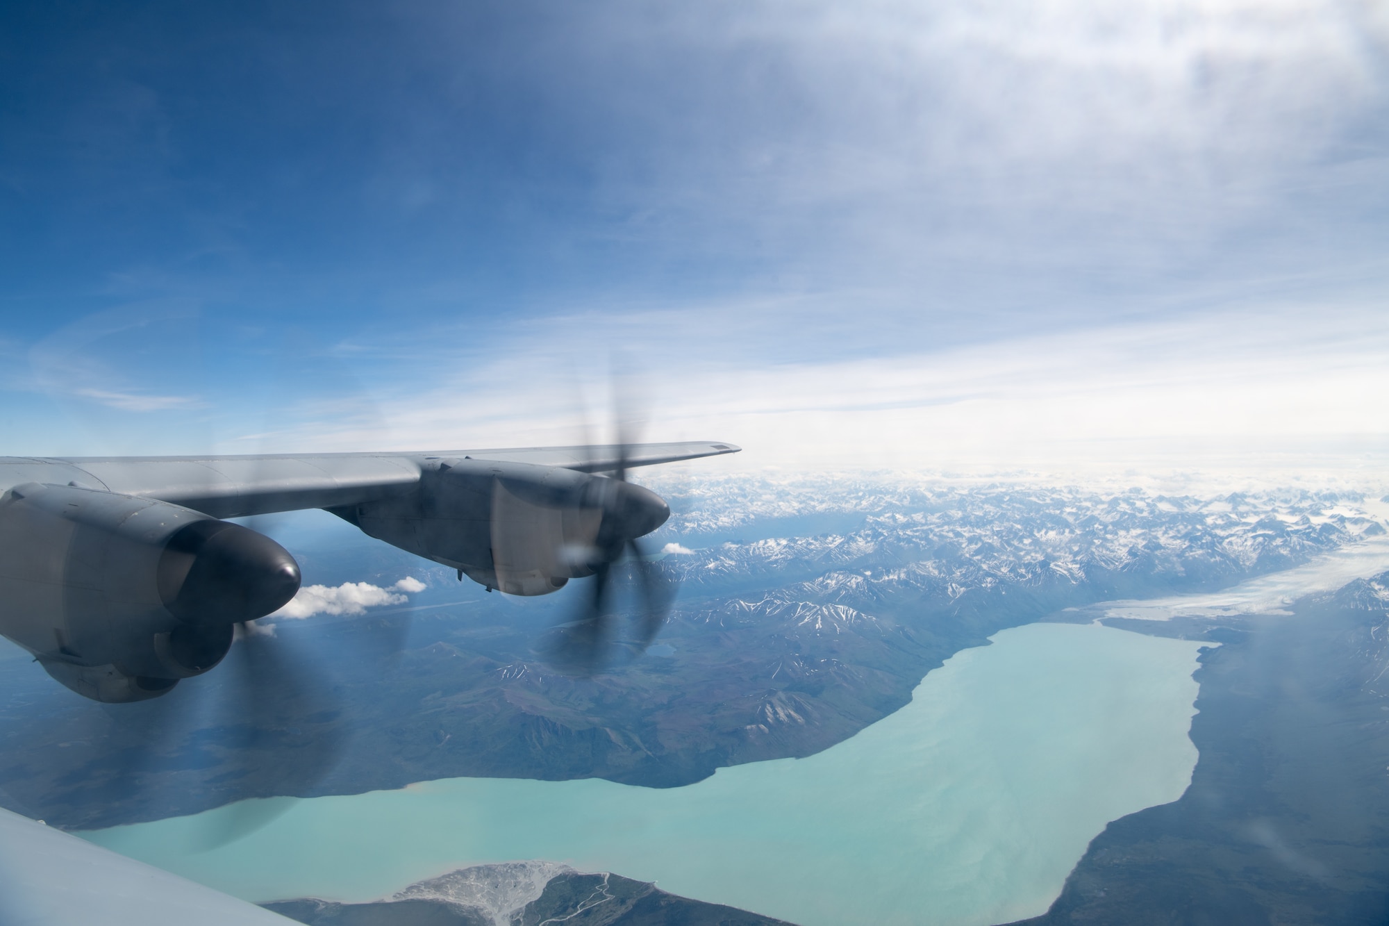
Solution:
<svg viewBox="0 0 1389 926"><path fill-rule="evenodd" d="M1221 498L1078 488L904 487L871 481L710 480L672 498L661 537L686 595L758 587L728 608L792 603L838 626L911 599L932 608L1015 587L1095 601L1214 588L1385 534L1372 501L1281 491ZM851 530L815 521L858 517ZM704 542L758 524L785 537ZM1072 594L1065 594L1067 591ZM825 610L826 606L847 610Z"/></svg>

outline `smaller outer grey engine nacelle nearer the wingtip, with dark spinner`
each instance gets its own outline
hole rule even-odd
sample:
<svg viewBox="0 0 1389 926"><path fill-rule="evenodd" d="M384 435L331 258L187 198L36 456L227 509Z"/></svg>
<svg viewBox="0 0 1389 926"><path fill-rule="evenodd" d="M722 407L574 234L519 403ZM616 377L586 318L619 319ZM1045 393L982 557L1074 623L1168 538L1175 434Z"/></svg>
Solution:
<svg viewBox="0 0 1389 926"><path fill-rule="evenodd" d="M378 539L508 595L546 595L592 576L608 537L669 517L640 485L564 467L440 459L410 496L329 509Z"/></svg>

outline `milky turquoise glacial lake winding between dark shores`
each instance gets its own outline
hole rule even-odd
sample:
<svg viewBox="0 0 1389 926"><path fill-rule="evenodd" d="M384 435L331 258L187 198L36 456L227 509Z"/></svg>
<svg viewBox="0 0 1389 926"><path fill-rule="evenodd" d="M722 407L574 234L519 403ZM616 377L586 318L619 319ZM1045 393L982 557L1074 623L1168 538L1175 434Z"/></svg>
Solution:
<svg viewBox="0 0 1389 926"><path fill-rule="evenodd" d="M283 812L211 850L225 808L83 836L253 901L550 859L804 926L1008 922L1047 909L1106 823L1186 790L1200 645L1004 630L845 742L682 788L447 779L253 802Z"/></svg>

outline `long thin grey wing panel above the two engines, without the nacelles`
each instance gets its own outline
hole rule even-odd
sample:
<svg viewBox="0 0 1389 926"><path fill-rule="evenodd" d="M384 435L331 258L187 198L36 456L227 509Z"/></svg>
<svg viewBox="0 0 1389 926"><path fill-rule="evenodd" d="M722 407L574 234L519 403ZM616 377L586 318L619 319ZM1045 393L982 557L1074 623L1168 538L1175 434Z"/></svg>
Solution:
<svg viewBox="0 0 1389 926"><path fill-rule="evenodd" d="M626 466L654 466L736 453L732 444L633 444ZM0 459L0 491L24 482L67 484L182 505L213 517L244 517L307 507L358 505L407 492L431 460L474 459L557 466L582 473L615 470L618 445L307 453L246 456L108 456Z"/></svg>

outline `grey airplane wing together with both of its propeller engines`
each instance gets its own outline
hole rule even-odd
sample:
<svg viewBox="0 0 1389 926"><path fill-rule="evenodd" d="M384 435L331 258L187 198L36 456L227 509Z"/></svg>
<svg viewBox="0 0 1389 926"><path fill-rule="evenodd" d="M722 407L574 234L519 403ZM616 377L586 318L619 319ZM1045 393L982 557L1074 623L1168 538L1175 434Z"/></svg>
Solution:
<svg viewBox="0 0 1389 926"><path fill-rule="evenodd" d="M671 512L663 498L628 482L626 470L738 449L692 441L0 457L0 634L83 697L158 697L214 667L235 624L274 613L299 590L299 564L286 549L219 519L318 507L488 591L549 595L571 578L594 577L585 626L613 619L603 606L610 567L631 553L643 576L649 641L668 602L638 538Z"/></svg>

